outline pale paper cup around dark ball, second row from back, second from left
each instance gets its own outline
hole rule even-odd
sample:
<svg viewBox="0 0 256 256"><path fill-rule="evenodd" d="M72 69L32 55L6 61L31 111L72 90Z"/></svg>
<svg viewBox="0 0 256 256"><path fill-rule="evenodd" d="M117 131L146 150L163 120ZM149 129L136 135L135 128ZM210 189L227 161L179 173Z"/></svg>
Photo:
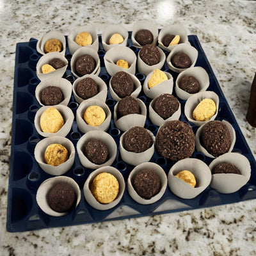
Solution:
<svg viewBox="0 0 256 256"><path fill-rule="evenodd" d="M95 74L98 76L100 74L100 58L99 58L98 52L93 50L90 47L81 47L81 48L77 49L76 52L74 52L74 54L72 55L71 61L70 61L71 72L74 74L74 76L76 78L81 77L78 74L76 74L76 61L80 56L82 56L84 54L88 54L88 55L92 56L92 58L95 60L96 66L91 74L92 75Z"/></svg>

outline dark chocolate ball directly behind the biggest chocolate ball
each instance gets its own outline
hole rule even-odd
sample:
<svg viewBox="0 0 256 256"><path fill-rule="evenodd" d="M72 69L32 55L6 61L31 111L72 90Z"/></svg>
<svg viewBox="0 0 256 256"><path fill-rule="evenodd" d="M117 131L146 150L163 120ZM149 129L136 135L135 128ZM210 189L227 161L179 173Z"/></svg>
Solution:
<svg viewBox="0 0 256 256"><path fill-rule="evenodd" d="M163 93L156 98L152 108L165 120L179 109L179 100L172 94Z"/></svg>

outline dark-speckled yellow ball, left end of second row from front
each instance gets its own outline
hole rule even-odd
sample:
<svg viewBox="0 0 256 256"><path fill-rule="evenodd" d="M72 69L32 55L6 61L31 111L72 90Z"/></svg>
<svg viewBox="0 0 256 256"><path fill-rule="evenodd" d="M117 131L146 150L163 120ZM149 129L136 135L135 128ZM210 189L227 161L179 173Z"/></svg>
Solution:
<svg viewBox="0 0 256 256"><path fill-rule="evenodd" d="M49 145L44 153L45 163L58 166L68 159L68 150L61 144Z"/></svg>

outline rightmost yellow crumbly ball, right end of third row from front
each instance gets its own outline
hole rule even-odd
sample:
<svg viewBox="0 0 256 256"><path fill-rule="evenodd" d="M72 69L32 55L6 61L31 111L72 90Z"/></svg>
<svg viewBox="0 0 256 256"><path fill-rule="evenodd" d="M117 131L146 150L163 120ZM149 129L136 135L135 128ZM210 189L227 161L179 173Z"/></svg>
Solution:
<svg viewBox="0 0 256 256"><path fill-rule="evenodd" d="M193 111L196 121L208 121L216 113L216 104L212 99L202 100Z"/></svg>

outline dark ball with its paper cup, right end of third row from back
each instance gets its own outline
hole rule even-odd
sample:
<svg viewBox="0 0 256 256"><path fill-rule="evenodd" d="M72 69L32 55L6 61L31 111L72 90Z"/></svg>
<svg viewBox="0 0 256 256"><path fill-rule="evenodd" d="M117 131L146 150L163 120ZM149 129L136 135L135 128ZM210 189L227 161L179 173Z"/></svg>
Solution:
<svg viewBox="0 0 256 256"><path fill-rule="evenodd" d="M192 67L180 72L176 79L175 92L180 99L187 100L195 93L206 91L209 84L209 76L205 69Z"/></svg>

